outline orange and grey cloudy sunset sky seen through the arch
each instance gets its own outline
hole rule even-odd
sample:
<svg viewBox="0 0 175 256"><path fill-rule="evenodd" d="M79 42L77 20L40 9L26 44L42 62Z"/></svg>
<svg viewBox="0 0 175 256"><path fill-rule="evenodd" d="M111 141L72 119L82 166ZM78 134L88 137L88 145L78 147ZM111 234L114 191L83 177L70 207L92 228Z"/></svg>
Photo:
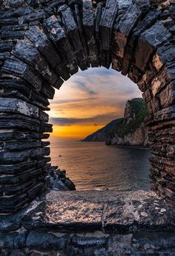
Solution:
<svg viewBox="0 0 175 256"><path fill-rule="evenodd" d="M127 100L140 96L136 84L111 68L79 70L50 100L50 142L83 139L122 117Z"/></svg>

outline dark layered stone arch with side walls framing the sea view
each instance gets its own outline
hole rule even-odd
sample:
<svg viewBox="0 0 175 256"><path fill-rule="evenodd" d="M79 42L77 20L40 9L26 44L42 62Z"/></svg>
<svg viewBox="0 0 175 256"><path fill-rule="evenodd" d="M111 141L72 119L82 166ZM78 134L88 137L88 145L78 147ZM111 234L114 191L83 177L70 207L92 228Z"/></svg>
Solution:
<svg viewBox="0 0 175 256"><path fill-rule="evenodd" d="M151 188L174 204L174 4L161 0L1 1L0 213L47 187L48 99L79 68L136 82L148 107Z"/></svg>

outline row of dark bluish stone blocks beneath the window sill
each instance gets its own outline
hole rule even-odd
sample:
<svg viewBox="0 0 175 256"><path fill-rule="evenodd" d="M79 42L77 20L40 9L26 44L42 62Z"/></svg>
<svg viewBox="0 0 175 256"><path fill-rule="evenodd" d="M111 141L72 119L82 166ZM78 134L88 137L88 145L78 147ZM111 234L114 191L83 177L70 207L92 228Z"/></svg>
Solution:
<svg viewBox="0 0 175 256"><path fill-rule="evenodd" d="M174 233L137 232L136 234L105 234L104 232L64 234L30 232L25 241L18 240L13 249L2 249L1 256L174 256ZM25 247L27 246L27 247ZM4 245L5 247L5 245Z"/></svg>

